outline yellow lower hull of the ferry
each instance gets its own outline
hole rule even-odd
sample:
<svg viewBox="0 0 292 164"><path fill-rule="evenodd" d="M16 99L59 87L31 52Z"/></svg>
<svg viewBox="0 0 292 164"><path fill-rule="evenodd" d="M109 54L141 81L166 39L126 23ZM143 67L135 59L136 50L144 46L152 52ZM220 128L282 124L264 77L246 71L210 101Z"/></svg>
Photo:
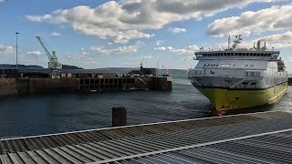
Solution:
<svg viewBox="0 0 292 164"><path fill-rule="evenodd" d="M197 89L211 101L215 109L229 110L274 104L287 92L287 82L263 90Z"/></svg>

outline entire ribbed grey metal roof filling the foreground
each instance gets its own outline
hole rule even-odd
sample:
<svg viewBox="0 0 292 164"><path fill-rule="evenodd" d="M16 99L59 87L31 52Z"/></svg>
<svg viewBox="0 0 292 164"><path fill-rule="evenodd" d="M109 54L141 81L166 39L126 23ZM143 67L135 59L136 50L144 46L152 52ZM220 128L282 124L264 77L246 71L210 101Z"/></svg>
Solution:
<svg viewBox="0 0 292 164"><path fill-rule="evenodd" d="M291 118L267 112L1 139L0 163L286 162Z"/></svg>

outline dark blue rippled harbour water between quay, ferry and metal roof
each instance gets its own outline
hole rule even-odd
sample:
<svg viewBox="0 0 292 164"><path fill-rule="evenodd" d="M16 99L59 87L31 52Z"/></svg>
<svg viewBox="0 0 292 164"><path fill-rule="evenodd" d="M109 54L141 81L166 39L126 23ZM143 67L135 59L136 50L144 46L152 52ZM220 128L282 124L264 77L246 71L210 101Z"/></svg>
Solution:
<svg viewBox="0 0 292 164"><path fill-rule="evenodd" d="M172 70L172 92L126 91L49 96L0 97L0 137L30 136L111 126L111 108L128 108L128 124L203 118L211 104L186 78ZM292 112L291 88L273 106L236 113Z"/></svg>

